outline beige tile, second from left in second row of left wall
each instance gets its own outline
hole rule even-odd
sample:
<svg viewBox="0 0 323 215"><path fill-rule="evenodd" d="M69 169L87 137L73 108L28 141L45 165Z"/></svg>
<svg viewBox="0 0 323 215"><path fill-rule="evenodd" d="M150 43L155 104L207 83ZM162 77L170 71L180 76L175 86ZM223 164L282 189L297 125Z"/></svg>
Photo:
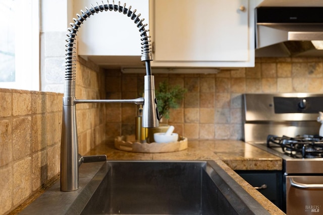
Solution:
<svg viewBox="0 0 323 215"><path fill-rule="evenodd" d="M17 160L31 152L31 117L13 120L13 155Z"/></svg>

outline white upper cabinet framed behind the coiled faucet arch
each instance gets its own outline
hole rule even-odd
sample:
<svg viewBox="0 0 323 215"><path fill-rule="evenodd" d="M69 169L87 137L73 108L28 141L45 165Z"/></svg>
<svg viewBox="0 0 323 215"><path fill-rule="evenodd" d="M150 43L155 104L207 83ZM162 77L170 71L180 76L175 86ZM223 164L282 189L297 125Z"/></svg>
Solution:
<svg viewBox="0 0 323 215"><path fill-rule="evenodd" d="M74 14L81 14L87 7L97 6L97 0L74 0ZM118 1L114 1L118 5ZM107 4L107 1L103 1ZM120 6L126 3L136 15L141 14L143 23L149 24L148 0L121 1ZM113 1L109 1L113 4ZM72 20L71 20L72 22ZM147 26L148 28L148 26ZM78 55L90 59L100 66L140 64L141 40L139 28L127 15L115 11L103 11L91 15L83 22L77 33Z"/></svg>

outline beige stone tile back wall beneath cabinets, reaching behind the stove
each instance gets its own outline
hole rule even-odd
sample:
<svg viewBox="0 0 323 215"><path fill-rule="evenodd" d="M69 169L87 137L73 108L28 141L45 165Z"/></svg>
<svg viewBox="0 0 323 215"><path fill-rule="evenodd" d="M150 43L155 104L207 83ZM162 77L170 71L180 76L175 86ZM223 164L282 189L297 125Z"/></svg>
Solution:
<svg viewBox="0 0 323 215"><path fill-rule="evenodd" d="M152 69L153 73L153 69ZM107 72L110 98L134 98L143 92L144 74ZM154 74L155 86L166 80L188 89L181 107L165 123L191 139L243 139L242 94L323 92L322 58L259 58L254 68L218 74ZM107 106L107 137L134 134L137 106Z"/></svg>

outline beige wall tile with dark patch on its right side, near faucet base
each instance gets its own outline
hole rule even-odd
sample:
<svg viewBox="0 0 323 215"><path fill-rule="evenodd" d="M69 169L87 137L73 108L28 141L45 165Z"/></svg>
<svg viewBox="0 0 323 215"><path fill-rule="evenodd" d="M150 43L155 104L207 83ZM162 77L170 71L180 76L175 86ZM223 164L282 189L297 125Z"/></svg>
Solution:
<svg viewBox="0 0 323 215"><path fill-rule="evenodd" d="M47 152L38 151L32 155L32 191L36 191L47 181Z"/></svg>

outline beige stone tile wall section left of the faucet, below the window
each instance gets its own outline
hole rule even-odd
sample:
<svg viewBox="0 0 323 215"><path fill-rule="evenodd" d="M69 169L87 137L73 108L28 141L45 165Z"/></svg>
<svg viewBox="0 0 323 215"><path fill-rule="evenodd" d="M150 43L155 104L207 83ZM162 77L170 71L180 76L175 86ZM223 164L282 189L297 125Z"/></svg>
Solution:
<svg viewBox="0 0 323 215"><path fill-rule="evenodd" d="M57 177L62 97L0 89L0 214Z"/></svg>

